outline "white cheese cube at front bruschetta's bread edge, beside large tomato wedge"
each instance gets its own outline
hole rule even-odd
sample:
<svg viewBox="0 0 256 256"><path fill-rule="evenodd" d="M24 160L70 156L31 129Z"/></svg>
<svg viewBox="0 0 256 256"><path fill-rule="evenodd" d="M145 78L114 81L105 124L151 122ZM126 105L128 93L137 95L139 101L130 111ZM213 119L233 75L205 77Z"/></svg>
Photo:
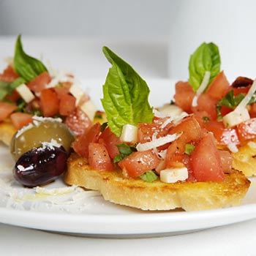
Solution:
<svg viewBox="0 0 256 256"><path fill-rule="evenodd" d="M187 167L167 168L160 171L160 180L165 183L185 181L189 177Z"/></svg>

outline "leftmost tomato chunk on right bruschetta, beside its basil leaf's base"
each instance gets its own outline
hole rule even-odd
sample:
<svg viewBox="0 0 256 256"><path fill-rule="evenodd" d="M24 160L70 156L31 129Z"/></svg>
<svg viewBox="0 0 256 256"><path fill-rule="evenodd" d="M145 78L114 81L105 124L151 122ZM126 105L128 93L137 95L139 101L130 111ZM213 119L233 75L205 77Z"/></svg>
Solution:
<svg viewBox="0 0 256 256"><path fill-rule="evenodd" d="M195 91L188 82L179 81L176 83L176 94L174 99L176 105L187 113L191 113L192 100L195 97Z"/></svg>

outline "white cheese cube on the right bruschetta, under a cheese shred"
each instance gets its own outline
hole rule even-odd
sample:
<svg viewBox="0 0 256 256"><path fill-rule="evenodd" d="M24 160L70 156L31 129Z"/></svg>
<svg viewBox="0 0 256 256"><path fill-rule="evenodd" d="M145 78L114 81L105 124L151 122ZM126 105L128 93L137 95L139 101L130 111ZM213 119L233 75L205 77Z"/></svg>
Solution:
<svg viewBox="0 0 256 256"><path fill-rule="evenodd" d="M226 116L223 116L222 121L225 124L225 127L235 127L243 121L249 120L249 112L246 108L243 108L239 111L233 110L228 113Z"/></svg>

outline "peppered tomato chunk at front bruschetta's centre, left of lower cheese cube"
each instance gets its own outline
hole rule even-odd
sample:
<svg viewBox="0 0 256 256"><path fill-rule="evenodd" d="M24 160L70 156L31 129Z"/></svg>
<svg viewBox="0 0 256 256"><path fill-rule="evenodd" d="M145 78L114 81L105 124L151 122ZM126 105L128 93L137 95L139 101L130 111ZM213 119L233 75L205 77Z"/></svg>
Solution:
<svg viewBox="0 0 256 256"><path fill-rule="evenodd" d="M148 170L153 170L159 165L159 159L152 151L137 151L129 154L118 165L124 172L124 176L138 177Z"/></svg>

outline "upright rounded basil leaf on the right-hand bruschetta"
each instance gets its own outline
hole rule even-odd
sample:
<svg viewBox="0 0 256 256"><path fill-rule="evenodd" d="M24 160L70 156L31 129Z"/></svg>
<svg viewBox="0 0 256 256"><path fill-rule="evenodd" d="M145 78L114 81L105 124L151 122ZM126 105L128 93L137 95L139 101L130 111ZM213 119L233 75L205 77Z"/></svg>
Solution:
<svg viewBox="0 0 256 256"><path fill-rule="evenodd" d="M219 48L213 42L203 42L189 59L189 83L194 91L200 87L206 71L211 72L209 83L220 71Z"/></svg>

